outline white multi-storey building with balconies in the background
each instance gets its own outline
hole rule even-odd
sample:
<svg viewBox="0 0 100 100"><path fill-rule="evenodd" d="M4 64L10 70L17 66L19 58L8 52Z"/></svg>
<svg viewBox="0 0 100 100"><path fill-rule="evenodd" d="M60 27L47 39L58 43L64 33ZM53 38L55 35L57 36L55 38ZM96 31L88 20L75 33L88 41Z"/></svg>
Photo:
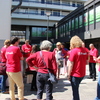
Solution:
<svg viewBox="0 0 100 100"><path fill-rule="evenodd" d="M46 39L47 20L49 16L49 39L54 38L52 27L71 11L80 7L87 0L23 0L21 7L15 10L11 16L11 36L19 36L21 41L31 40L31 43L39 43ZM12 8L19 0L12 0Z"/></svg>

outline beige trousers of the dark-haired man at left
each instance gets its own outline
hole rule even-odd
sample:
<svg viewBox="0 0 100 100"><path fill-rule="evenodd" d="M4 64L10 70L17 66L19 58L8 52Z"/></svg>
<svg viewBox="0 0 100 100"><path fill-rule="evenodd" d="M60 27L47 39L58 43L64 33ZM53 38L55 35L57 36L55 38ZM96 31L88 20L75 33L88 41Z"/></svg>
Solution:
<svg viewBox="0 0 100 100"><path fill-rule="evenodd" d="M19 100L24 100L24 84L23 84L23 77L21 72L7 72L8 80L9 80L9 93L11 100L15 99L15 84L18 88L18 98Z"/></svg>

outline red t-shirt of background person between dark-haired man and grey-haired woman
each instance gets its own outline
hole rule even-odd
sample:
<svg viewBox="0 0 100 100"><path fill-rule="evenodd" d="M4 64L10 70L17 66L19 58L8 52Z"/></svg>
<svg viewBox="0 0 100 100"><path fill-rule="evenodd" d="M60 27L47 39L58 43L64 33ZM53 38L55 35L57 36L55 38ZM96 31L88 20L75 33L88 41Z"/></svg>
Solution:
<svg viewBox="0 0 100 100"><path fill-rule="evenodd" d="M22 45L22 52L24 52L23 57L26 58L29 57L31 51L32 51L31 45L26 45L26 44Z"/></svg>

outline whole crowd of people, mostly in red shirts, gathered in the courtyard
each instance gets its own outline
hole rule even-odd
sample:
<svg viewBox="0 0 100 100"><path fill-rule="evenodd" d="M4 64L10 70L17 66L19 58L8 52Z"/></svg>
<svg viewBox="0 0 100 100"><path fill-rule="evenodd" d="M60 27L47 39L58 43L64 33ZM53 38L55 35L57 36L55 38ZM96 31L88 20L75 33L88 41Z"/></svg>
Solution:
<svg viewBox="0 0 100 100"><path fill-rule="evenodd" d="M79 85L86 73L86 65L89 65L89 78L96 80L96 63L100 64L98 50L91 43L89 49L78 37L73 36L70 40L70 50L65 48L65 44L56 43L56 48L51 51L52 43L48 40L42 41L40 50L37 45L31 46L29 40L19 46L18 37L5 40L1 49L1 63L6 65L6 74L2 75L1 92L6 90L6 79L9 80L9 94L11 100L15 99L15 84L18 88L19 100L24 100L23 79L26 74L32 74L31 91L37 91L37 100L42 100L43 90L46 89L46 100L53 100L53 84L49 80L48 69L57 79L60 75L67 74L67 79L71 82L73 100L80 100ZM21 67L23 60L23 67ZM22 70L23 69L23 70ZM58 81L59 82L59 81ZM100 66L98 74L97 97L100 100Z"/></svg>

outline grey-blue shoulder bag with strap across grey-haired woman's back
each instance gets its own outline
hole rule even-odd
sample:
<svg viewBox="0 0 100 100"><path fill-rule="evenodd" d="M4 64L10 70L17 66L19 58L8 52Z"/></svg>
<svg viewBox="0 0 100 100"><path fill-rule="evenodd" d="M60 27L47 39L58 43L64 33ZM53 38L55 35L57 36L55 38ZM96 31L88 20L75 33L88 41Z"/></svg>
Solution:
<svg viewBox="0 0 100 100"><path fill-rule="evenodd" d="M43 61L44 65L47 67L47 65L46 65L46 63L45 63L45 61L42 57L42 51L40 51L40 56L42 58L42 61ZM57 80L56 76L53 73L50 72L48 67L47 67L47 70L48 70L48 73L49 73L48 81L50 81L52 84L58 83L58 80Z"/></svg>

